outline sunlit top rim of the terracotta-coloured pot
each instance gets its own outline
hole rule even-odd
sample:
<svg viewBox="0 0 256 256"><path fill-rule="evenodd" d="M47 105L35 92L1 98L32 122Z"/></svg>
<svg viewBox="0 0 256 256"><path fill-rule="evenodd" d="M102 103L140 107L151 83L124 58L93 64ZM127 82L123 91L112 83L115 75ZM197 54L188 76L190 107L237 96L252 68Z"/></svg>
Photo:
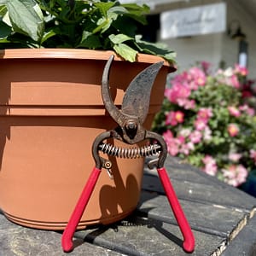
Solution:
<svg viewBox="0 0 256 256"><path fill-rule="evenodd" d="M98 49L65 49L65 48L22 48L1 49L0 59L76 59L76 60L108 60L110 55L115 55L115 61L124 61L113 50ZM160 56L138 53L136 62L154 63L164 61L166 67L176 70L175 65L170 64Z"/></svg>

